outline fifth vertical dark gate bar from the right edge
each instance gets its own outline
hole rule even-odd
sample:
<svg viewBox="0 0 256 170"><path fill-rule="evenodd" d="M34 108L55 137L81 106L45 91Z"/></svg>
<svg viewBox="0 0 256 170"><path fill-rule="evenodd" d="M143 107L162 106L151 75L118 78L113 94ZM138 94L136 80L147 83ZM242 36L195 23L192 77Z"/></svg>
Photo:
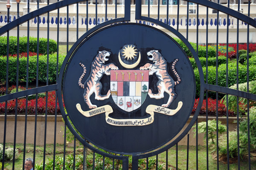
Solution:
<svg viewBox="0 0 256 170"><path fill-rule="evenodd" d="M209 8L206 8L206 83L208 84L208 26L209 26ZM208 91L206 91L206 164L209 170L209 150L208 150Z"/></svg>

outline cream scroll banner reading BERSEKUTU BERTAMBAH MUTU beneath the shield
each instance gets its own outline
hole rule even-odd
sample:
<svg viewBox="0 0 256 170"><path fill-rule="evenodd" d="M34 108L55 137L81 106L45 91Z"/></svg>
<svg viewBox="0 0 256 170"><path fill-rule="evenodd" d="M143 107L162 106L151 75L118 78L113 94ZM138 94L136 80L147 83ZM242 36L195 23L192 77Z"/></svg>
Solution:
<svg viewBox="0 0 256 170"><path fill-rule="evenodd" d="M146 108L146 113L150 114L150 116L148 118L144 118L144 119L114 119L114 118L111 118L108 116L110 113L113 113L113 109L110 105L104 105L99 108L91 109L90 111L83 111L81 109L81 105L79 103L76 104L77 110L82 115L84 115L86 117L91 117L91 116L95 116L95 115L98 115L101 113L105 113L106 122L109 125L113 125L113 126L145 126L145 125L149 125L154 122L154 112L172 116L175 113L177 113L181 107L182 107L182 102L178 103L178 106L175 110L172 110L169 108L164 108L164 107L157 106L157 105L148 105L148 107Z"/></svg>

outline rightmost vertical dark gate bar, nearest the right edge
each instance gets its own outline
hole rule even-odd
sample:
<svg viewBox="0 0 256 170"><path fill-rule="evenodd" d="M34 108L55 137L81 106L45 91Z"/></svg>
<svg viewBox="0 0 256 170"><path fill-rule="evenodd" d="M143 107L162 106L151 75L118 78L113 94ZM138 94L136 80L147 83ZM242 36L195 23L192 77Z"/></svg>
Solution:
<svg viewBox="0 0 256 170"><path fill-rule="evenodd" d="M250 17L250 0L248 0L248 17ZM247 24L247 93L249 93L249 24ZM248 135L248 164L250 166L250 102L247 99L247 135Z"/></svg>

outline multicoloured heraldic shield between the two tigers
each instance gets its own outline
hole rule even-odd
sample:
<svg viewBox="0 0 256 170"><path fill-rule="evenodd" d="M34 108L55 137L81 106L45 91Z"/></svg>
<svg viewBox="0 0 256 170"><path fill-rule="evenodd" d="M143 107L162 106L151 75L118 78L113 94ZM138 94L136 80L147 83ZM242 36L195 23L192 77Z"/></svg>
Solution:
<svg viewBox="0 0 256 170"><path fill-rule="evenodd" d="M110 75L116 105L127 112L140 108L148 95L148 70L111 70Z"/></svg>

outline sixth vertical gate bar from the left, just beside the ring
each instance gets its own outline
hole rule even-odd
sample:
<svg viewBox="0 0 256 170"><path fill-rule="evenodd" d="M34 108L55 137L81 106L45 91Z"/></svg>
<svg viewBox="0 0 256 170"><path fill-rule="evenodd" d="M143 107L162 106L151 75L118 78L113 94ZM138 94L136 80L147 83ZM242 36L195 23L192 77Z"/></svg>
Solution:
<svg viewBox="0 0 256 170"><path fill-rule="evenodd" d="M57 0L59 2L59 0ZM58 82L58 55L59 55L59 17L60 9L57 9L57 56L56 56L56 82ZM55 119L54 119L54 144L53 144L53 170L55 169L55 153L56 153L56 131L57 131L57 106L58 98L57 91L55 91Z"/></svg>

